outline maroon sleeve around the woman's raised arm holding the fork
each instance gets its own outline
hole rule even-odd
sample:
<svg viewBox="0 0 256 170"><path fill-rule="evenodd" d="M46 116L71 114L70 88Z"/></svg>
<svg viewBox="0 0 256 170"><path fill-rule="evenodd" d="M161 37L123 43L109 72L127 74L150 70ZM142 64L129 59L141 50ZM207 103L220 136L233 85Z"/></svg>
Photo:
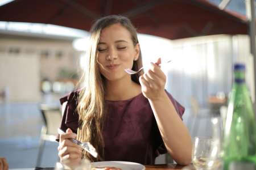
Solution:
<svg viewBox="0 0 256 170"><path fill-rule="evenodd" d="M180 105L170 93L166 91L168 97L170 98L172 104L174 105L177 114L179 114L180 118L182 119L183 113L185 111L185 108ZM153 146L155 150L155 156L158 156L160 154L166 154L167 153L167 148L164 145L162 136L160 134L160 131L158 129L158 125L156 124L156 120L154 119L152 122L152 141L153 141Z"/></svg>

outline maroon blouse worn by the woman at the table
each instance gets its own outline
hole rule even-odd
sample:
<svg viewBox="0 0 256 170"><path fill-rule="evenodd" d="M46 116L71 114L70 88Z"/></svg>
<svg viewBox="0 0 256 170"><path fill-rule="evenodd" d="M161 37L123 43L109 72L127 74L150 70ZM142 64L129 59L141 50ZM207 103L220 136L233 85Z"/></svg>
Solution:
<svg viewBox="0 0 256 170"><path fill-rule="evenodd" d="M184 108L168 92L167 94L177 113L182 117ZM60 99L61 104L68 101L60 126L64 131L71 128L74 133L77 133L78 96L79 92L76 91ZM166 154L167 150L154 113L143 94L129 100L106 100L105 104L108 107L108 116L102 130L105 160L154 164L156 156Z"/></svg>

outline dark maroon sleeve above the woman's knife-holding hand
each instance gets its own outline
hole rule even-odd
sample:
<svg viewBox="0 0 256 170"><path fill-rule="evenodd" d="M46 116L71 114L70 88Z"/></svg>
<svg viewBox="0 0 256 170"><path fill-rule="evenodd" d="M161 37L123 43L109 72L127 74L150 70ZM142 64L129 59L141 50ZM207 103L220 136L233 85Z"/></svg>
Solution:
<svg viewBox="0 0 256 170"><path fill-rule="evenodd" d="M70 128L73 133L77 133L77 127L79 122L79 115L76 111L78 103L79 91L73 91L67 96L60 98L60 104L67 102L63 117L60 124L60 129L66 131ZM59 141L59 134L56 137L56 141Z"/></svg>

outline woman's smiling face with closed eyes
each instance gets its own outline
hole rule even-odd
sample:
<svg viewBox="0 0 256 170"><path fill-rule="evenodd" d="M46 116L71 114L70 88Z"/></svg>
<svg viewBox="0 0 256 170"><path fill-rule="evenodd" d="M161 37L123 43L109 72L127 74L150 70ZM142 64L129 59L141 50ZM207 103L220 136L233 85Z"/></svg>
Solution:
<svg viewBox="0 0 256 170"><path fill-rule="evenodd" d="M97 46L97 62L100 72L108 80L130 76L124 70L133 67L139 57L139 44L133 45L130 32L121 24L102 29Z"/></svg>

